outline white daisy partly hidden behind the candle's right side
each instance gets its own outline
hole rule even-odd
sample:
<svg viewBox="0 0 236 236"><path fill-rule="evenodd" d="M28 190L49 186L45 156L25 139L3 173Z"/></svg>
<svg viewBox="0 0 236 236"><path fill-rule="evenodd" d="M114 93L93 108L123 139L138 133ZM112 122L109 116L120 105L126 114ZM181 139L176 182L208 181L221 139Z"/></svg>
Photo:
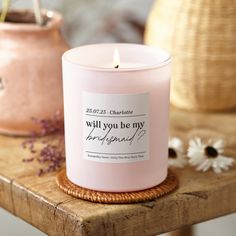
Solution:
<svg viewBox="0 0 236 236"><path fill-rule="evenodd" d="M183 142L179 138L169 139L168 144L168 165L183 168L187 164L183 150Z"/></svg>

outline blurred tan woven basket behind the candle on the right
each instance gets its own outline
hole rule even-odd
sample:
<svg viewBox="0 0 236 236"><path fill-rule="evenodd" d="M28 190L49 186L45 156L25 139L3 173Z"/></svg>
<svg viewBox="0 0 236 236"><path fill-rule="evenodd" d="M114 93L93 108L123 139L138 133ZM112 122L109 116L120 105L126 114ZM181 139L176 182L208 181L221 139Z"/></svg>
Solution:
<svg viewBox="0 0 236 236"><path fill-rule="evenodd" d="M236 0L157 0L145 43L172 53L171 103L188 110L236 107Z"/></svg>

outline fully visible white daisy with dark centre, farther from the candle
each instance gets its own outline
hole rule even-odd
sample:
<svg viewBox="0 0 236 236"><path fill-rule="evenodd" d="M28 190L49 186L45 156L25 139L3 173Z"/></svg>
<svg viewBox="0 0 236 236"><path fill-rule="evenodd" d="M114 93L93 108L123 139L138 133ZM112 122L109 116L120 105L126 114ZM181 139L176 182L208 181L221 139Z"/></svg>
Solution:
<svg viewBox="0 0 236 236"><path fill-rule="evenodd" d="M189 164L195 166L197 171L205 172L212 168L215 173L221 173L222 170L228 170L234 163L234 159L223 156L223 152L222 139L203 143L200 138L195 138L189 141L187 156Z"/></svg>

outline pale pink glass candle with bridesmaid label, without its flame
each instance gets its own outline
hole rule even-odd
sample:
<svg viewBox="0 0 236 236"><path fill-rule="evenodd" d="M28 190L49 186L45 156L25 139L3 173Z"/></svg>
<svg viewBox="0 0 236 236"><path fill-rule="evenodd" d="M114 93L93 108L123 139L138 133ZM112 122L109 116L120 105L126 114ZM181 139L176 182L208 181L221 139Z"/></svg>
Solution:
<svg viewBox="0 0 236 236"><path fill-rule="evenodd" d="M62 59L69 180L109 192L160 184L167 176L168 53L98 44L71 49Z"/></svg>

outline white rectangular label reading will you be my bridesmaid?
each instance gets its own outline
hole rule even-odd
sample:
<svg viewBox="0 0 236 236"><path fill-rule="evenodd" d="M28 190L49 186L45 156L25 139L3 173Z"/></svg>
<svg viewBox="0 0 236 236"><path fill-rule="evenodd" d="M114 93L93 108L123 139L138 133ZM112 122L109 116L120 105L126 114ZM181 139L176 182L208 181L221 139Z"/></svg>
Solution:
<svg viewBox="0 0 236 236"><path fill-rule="evenodd" d="M84 158L106 163L149 159L149 94L83 93Z"/></svg>

